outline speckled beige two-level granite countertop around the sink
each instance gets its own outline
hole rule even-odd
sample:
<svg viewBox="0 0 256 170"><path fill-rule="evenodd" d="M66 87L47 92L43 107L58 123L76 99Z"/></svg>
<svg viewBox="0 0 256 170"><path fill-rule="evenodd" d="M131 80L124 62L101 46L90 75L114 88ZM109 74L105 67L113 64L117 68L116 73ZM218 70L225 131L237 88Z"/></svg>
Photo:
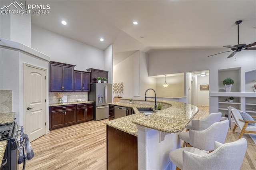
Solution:
<svg viewBox="0 0 256 170"><path fill-rule="evenodd" d="M143 99L136 100L144 101ZM140 113L136 107L152 107L152 109L154 109L154 106L152 105L121 102L109 103L110 105L132 107L135 114L114 119L105 122L105 124L134 136L138 136L136 125L152 128L162 132L176 133L184 130L186 125L188 125L191 119L196 115L196 113L198 113L198 107L194 105L164 100L157 100L157 102L161 102L167 108L148 116L145 116L144 113Z"/></svg>

